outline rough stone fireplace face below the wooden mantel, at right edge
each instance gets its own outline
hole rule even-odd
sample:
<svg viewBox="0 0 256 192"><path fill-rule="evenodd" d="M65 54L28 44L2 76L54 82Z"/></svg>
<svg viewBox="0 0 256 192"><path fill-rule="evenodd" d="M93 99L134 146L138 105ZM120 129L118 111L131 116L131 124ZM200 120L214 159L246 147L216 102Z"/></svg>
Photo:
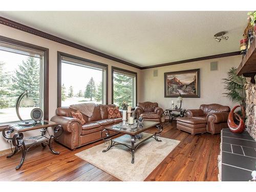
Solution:
<svg viewBox="0 0 256 192"><path fill-rule="evenodd" d="M248 83L246 92L246 129L256 139L256 85Z"/></svg>

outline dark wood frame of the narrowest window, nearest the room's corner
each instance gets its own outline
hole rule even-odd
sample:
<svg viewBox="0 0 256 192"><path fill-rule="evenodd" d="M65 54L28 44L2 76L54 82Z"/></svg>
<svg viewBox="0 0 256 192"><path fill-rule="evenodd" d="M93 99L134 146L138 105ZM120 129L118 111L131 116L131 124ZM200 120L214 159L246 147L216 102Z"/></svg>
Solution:
<svg viewBox="0 0 256 192"><path fill-rule="evenodd" d="M131 74L134 74L135 75L135 86L136 86L136 88L134 89L135 90L135 106L133 106L132 107L132 110L134 110L135 109L135 107L137 106L137 95L138 95L138 92L137 92L137 89L138 89L138 73L137 72L134 72L134 71L129 71L129 70L126 70L126 69L121 69L121 68L118 68L118 67L114 67L114 66L112 66L111 67L111 102L112 102L112 104L114 104L114 71L115 70L117 70L117 71L121 71L121 72L126 72L126 73L131 73ZM125 74L124 74L125 75Z"/></svg>

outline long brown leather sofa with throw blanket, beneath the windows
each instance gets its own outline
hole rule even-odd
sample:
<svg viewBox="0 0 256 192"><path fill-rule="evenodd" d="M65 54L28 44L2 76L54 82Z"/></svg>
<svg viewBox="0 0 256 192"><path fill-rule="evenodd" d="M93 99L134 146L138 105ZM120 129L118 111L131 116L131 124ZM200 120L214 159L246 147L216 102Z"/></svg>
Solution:
<svg viewBox="0 0 256 192"><path fill-rule="evenodd" d="M114 104L96 105L92 117L87 117L82 114L85 124L71 116L71 112L76 112L71 108L57 108L56 115L51 118L51 121L59 123L63 127L63 133L58 138L57 142L74 150L77 147L101 139L100 132L106 126L122 122L122 118L108 119L107 106L115 107ZM121 114L122 115L122 114ZM110 135L117 134L110 131Z"/></svg>

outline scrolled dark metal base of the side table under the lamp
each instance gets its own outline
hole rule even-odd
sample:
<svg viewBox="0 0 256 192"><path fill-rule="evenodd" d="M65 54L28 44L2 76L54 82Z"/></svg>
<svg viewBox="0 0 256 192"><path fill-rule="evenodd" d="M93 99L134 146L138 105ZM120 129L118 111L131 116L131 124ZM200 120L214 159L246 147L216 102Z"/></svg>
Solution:
<svg viewBox="0 0 256 192"><path fill-rule="evenodd" d="M3 136L4 136L4 138L7 139L7 142L10 142L15 147L14 150L12 151L12 153L7 156L7 158L11 158L17 152L22 151L22 159L20 160L20 163L15 167L16 170L19 169L20 167L22 167L25 157L26 157L26 153L30 150L30 148L32 146L38 145L40 143L41 143L42 147L49 146L52 154L54 154L54 155L59 154L59 152L54 151L52 144L53 144L54 138L59 137L63 132L63 128L60 125L55 126L54 134L56 134L56 135L51 135L50 138L45 136L46 132L47 132L47 127L42 128L40 130L41 136L45 137L46 139L43 141L33 142L31 144L28 144L27 146L23 140L23 138L24 138L23 133L18 132L18 133L15 133L13 135L13 137L11 137L11 134L13 132L14 132L14 129L12 129L11 127L7 127L6 129L3 130ZM10 137L8 137L7 135L10 135Z"/></svg>

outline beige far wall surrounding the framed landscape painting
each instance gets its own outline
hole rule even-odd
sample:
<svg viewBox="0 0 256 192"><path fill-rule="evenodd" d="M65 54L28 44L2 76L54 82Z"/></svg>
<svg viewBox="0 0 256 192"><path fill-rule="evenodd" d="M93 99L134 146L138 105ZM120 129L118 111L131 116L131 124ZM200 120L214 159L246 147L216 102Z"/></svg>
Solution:
<svg viewBox="0 0 256 192"><path fill-rule="evenodd" d="M218 71L210 71L210 61L219 62ZM219 103L232 107L235 103L222 94L225 92L222 78L226 77L231 67L238 67L240 62L241 56L238 55L142 70L142 98L144 101L158 102L163 109L170 108L172 100L176 104L177 98L164 97L164 73L200 69L201 97L183 98L182 108L197 109L203 103ZM157 77L153 76L154 70L158 70Z"/></svg>

